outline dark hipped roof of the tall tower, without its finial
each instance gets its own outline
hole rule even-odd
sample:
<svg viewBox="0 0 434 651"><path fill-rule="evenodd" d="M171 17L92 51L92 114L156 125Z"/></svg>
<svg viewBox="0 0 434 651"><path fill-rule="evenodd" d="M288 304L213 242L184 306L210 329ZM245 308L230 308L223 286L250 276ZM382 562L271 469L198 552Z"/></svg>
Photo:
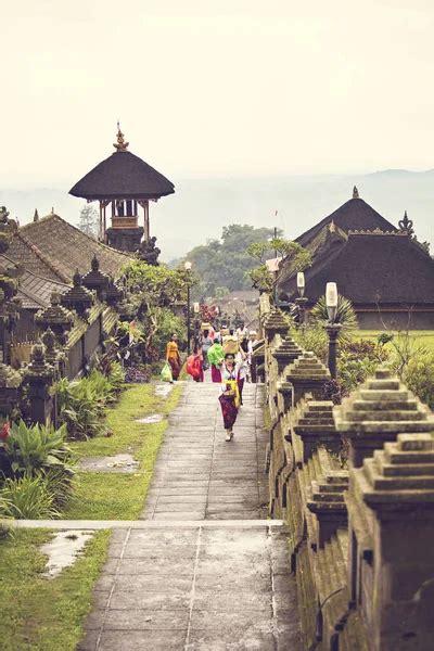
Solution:
<svg viewBox="0 0 434 651"><path fill-rule="evenodd" d="M175 192L159 171L131 152L115 152L69 190L85 199L158 199Z"/></svg>

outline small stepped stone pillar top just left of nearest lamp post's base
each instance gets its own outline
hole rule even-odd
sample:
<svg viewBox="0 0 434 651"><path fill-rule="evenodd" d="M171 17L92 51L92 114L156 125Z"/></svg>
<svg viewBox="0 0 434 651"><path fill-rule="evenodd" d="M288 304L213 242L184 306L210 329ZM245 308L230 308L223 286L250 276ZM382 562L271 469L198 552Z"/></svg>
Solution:
<svg viewBox="0 0 434 651"><path fill-rule="evenodd" d="M295 361L286 367L285 380L294 387L294 404L302 400L306 393L314 399L321 400L324 384L330 380L330 371L320 362L314 353L303 353Z"/></svg>

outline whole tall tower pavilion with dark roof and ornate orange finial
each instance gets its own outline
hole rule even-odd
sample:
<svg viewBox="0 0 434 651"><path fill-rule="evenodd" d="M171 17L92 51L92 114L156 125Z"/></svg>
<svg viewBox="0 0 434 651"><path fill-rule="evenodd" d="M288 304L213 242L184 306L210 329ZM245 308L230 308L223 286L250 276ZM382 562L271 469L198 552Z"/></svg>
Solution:
<svg viewBox="0 0 434 651"><path fill-rule="evenodd" d="M74 188L73 196L100 203L99 239L120 251L136 252L150 242L150 201L173 194L175 186L159 171L128 151L117 123L115 152L91 169ZM139 212L142 224L139 224ZM107 228L110 213L111 226Z"/></svg>

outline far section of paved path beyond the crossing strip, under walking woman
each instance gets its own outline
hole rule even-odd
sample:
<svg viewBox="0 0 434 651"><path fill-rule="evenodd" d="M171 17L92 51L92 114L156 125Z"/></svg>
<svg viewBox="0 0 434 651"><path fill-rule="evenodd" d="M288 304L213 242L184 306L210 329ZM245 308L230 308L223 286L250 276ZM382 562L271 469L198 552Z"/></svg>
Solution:
<svg viewBox="0 0 434 651"><path fill-rule="evenodd" d="M142 518L267 518L264 387L246 386L230 443L225 441L218 392L218 384L187 384L170 416Z"/></svg>

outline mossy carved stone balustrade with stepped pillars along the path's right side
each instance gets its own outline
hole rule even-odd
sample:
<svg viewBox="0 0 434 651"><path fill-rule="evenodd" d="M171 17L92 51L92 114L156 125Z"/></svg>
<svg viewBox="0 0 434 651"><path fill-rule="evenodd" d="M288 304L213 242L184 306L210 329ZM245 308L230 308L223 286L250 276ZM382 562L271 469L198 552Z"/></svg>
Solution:
<svg viewBox="0 0 434 651"><path fill-rule="evenodd" d="M272 518L288 523L303 648L422 651L434 618L434 417L387 369L340 406L261 297Z"/></svg>

